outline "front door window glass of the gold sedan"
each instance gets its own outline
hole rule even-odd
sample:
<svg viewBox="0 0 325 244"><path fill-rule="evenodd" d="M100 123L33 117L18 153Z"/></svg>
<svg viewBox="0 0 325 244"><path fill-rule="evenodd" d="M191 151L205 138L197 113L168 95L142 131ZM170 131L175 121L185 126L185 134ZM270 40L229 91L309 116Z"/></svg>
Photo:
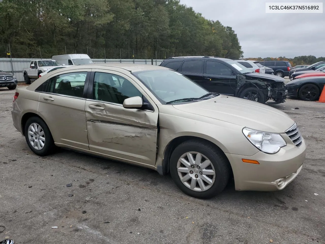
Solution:
<svg viewBox="0 0 325 244"><path fill-rule="evenodd" d="M127 79L114 74L96 72L93 99L123 104L130 97L142 97L142 93Z"/></svg>

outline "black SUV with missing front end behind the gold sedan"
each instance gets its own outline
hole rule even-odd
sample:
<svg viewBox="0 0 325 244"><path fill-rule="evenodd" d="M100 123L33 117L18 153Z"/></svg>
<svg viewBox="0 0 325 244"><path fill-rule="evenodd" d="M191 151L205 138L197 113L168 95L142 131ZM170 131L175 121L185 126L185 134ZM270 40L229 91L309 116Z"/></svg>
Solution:
<svg viewBox="0 0 325 244"><path fill-rule="evenodd" d="M173 69L210 92L265 103L285 102L287 90L284 79L275 75L252 72L231 59L218 57L173 57L160 66Z"/></svg>

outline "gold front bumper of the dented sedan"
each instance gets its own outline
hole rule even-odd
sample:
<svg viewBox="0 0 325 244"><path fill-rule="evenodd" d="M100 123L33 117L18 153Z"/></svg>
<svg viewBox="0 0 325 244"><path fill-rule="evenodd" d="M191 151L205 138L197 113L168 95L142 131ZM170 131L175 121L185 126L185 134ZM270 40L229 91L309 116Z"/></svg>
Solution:
<svg viewBox="0 0 325 244"><path fill-rule="evenodd" d="M285 138L286 134L283 134ZM289 139L290 140L290 139ZM253 156L226 153L231 164L237 191L278 191L284 189L299 174L305 161L304 139L297 147L287 146L276 154L258 152ZM256 160L260 164L243 163L242 159Z"/></svg>

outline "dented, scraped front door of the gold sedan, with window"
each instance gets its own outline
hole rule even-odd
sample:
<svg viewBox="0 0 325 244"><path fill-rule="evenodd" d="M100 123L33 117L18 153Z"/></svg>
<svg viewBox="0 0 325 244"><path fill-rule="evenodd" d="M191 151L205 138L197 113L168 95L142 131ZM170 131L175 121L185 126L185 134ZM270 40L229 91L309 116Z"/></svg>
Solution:
<svg viewBox="0 0 325 244"><path fill-rule="evenodd" d="M158 107L127 75L96 69L91 77L92 94L85 104L89 149L124 162L154 166ZM149 102L152 111L124 108L124 99L135 96Z"/></svg>

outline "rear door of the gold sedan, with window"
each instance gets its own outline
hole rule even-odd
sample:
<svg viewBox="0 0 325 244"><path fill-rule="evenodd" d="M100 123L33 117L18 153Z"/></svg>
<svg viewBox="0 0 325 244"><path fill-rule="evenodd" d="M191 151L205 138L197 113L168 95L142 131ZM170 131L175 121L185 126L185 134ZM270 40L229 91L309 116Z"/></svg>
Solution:
<svg viewBox="0 0 325 244"><path fill-rule="evenodd" d="M83 97L89 75L90 70L56 75L40 93L38 113L46 118L54 141L61 146L89 150Z"/></svg>

